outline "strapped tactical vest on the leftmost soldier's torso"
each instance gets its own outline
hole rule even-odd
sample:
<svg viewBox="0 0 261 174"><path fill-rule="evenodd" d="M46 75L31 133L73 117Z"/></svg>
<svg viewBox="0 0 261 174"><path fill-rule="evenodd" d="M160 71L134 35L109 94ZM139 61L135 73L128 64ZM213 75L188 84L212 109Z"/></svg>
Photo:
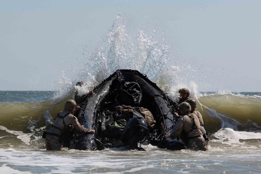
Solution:
<svg viewBox="0 0 261 174"><path fill-rule="evenodd" d="M61 136L64 130L68 129L70 126L69 115L70 111L63 110L57 114L54 124L49 129L47 135L55 135L57 137Z"/></svg>

